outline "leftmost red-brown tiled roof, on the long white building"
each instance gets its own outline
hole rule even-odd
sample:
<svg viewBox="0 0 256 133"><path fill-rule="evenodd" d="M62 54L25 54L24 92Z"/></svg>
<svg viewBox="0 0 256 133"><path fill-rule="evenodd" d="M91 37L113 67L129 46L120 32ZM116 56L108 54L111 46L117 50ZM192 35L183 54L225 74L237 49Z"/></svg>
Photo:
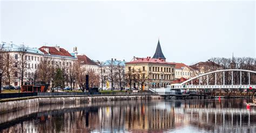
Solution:
<svg viewBox="0 0 256 133"><path fill-rule="evenodd" d="M44 50L45 48L49 49L49 53ZM73 57L67 50L65 50L64 48L59 48L59 50L57 50L56 47L49 47L49 46L43 46L41 48L39 48L40 51L42 51L44 54L51 54L51 55L59 55L59 56L69 56L69 57Z"/></svg>

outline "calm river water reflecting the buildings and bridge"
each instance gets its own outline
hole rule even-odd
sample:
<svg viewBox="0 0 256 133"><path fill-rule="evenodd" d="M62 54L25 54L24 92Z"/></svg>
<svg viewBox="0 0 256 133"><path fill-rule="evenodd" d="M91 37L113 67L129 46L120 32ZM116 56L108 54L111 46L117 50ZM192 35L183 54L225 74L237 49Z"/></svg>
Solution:
<svg viewBox="0 0 256 133"><path fill-rule="evenodd" d="M42 105L0 114L0 132L256 132L250 100Z"/></svg>

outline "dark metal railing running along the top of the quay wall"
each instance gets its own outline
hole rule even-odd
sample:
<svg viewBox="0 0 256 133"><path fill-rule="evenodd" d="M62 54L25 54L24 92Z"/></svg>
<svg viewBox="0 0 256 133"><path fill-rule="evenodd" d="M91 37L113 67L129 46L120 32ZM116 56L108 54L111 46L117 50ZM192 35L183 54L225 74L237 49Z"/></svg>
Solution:
<svg viewBox="0 0 256 133"><path fill-rule="evenodd" d="M74 96L107 96L107 95L157 95L153 92L30 92L30 93L1 93L0 99L25 97L74 97Z"/></svg>

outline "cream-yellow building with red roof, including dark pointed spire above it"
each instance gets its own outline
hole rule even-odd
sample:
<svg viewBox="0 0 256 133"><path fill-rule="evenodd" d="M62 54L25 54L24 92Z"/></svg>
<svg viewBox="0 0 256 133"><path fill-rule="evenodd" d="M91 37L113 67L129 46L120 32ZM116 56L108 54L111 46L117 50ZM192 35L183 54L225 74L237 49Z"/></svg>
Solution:
<svg viewBox="0 0 256 133"><path fill-rule="evenodd" d="M166 62L165 59L158 40L153 58L133 57L131 62L125 63L126 76L130 79L127 86L144 90L170 85L175 77L175 64Z"/></svg>

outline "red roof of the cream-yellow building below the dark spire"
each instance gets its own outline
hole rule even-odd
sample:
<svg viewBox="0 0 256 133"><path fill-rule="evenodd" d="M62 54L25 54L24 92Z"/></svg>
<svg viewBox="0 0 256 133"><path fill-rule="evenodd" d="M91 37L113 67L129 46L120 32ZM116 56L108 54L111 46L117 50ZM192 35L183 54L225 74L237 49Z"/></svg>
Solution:
<svg viewBox="0 0 256 133"><path fill-rule="evenodd" d="M157 64L170 64L170 65L174 65L173 63L166 62L164 59L161 59L161 58L151 58L151 57L146 57L146 58L138 58L138 57L136 57L136 60L131 61L131 62L126 62L125 64L136 64L136 63L157 63Z"/></svg>

